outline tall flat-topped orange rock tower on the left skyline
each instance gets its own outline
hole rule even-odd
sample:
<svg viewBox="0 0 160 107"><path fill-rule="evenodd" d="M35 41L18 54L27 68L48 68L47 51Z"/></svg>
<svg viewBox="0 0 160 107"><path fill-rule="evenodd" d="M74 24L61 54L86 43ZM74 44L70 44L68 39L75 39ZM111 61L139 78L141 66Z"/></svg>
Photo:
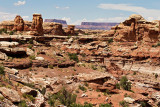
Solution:
<svg viewBox="0 0 160 107"><path fill-rule="evenodd" d="M42 36L43 33L43 19L41 14L33 14L31 35Z"/></svg>

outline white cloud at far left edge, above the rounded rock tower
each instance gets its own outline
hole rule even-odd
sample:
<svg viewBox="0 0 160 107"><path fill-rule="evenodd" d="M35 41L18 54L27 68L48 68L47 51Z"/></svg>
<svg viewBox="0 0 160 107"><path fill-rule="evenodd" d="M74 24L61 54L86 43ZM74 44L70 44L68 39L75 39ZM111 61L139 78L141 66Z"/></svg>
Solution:
<svg viewBox="0 0 160 107"><path fill-rule="evenodd" d="M0 21L4 20L14 20L16 14L0 12Z"/></svg>

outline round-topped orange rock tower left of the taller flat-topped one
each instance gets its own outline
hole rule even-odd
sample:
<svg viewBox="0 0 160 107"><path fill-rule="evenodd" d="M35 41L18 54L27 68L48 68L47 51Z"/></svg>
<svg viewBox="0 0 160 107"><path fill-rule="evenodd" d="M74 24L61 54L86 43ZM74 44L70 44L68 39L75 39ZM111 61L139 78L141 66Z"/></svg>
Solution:
<svg viewBox="0 0 160 107"><path fill-rule="evenodd" d="M14 19L14 28L15 31L24 31L24 20L21 16L17 15Z"/></svg>

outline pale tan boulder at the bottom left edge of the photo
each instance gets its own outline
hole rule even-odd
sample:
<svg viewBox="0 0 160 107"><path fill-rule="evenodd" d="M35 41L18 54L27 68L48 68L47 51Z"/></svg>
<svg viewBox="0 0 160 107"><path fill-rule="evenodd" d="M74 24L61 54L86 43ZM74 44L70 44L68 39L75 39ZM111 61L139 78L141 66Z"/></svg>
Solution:
<svg viewBox="0 0 160 107"><path fill-rule="evenodd" d="M2 95L4 97L6 97L7 99L9 99L11 102L20 102L20 96L18 94L17 91L13 90L13 89L8 89L5 87L0 87L0 92L2 93Z"/></svg>

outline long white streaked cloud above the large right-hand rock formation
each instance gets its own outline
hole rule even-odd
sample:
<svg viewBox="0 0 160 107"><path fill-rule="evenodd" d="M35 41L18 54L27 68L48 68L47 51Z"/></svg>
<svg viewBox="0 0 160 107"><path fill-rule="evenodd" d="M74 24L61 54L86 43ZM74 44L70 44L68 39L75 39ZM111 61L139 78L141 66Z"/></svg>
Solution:
<svg viewBox="0 0 160 107"><path fill-rule="evenodd" d="M137 13L142 15L147 19L151 19L152 17L154 20L158 19L160 16L160 10L157 9L147 9L144 7L133 6L130 4L99 4L98 8L107 9L107 10L122 10L122 11L129 11L133 13Z"/></svg>

